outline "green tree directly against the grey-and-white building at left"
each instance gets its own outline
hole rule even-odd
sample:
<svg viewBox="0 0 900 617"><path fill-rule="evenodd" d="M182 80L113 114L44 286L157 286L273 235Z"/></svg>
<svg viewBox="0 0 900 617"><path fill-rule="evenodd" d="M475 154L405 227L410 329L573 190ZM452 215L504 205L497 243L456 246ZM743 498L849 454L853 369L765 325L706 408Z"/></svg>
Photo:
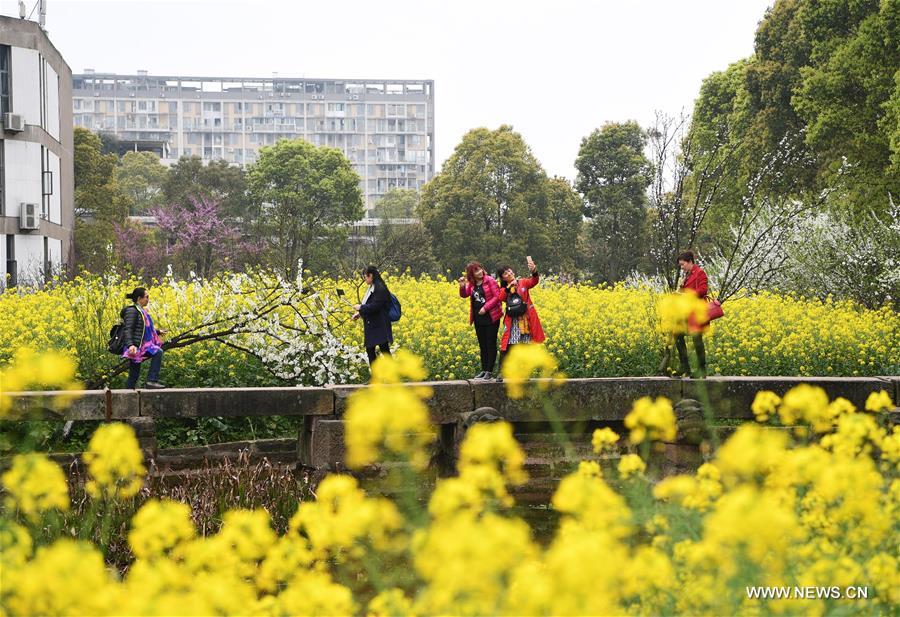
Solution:
<svg viewBox="0 0 900 617"><path fill-rule="evenodd" d="M102 272L113 260L115 226L125 222L127 205L116 187L116 156L103 154L100 138L76 127L75 262L80 268Z"/></svg>

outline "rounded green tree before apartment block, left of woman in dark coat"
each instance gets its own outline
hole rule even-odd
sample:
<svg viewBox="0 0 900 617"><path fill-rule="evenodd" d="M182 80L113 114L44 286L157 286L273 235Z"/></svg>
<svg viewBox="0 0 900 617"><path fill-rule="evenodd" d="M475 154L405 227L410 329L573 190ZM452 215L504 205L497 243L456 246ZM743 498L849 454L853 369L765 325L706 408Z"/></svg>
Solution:
<svg viewBox="0 0 900 617"><path fill-rule="evenodd" d="M359 176L336 148L302 139L260 150L248 172L250 194L262 215L260 238L289 277L303 267L327 267L343 246L347 224L363 215Z"/></svg>

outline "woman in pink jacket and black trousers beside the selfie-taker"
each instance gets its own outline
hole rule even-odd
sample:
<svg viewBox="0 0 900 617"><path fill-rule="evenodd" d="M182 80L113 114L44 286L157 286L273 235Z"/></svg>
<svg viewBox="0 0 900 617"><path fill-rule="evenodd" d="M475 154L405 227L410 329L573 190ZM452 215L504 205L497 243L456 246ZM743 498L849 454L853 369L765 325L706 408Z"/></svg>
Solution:
<svg viewBox="0 0 900 617"><path fill-rule="evenodd" d="M481 372L475 379L493 379L494 363L497 361L497 332L503 316L500 287L480 263L473 261L466 266L466 275L459 279L459 295L471 298L469 323L475 324L481 351Z"/></svg>

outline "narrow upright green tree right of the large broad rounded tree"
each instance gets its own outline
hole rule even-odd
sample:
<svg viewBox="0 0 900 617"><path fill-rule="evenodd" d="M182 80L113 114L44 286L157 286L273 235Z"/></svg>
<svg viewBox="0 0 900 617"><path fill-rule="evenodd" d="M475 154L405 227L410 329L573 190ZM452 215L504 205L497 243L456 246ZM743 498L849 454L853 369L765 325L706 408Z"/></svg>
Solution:
<svg viewBox="0 0 900 617"><path fill-rule="evenodd" d="M608 122L581 141L575 188L590 219L590 269L606 282L624 279L646 252L650 161L637 122Z"/></svg>

